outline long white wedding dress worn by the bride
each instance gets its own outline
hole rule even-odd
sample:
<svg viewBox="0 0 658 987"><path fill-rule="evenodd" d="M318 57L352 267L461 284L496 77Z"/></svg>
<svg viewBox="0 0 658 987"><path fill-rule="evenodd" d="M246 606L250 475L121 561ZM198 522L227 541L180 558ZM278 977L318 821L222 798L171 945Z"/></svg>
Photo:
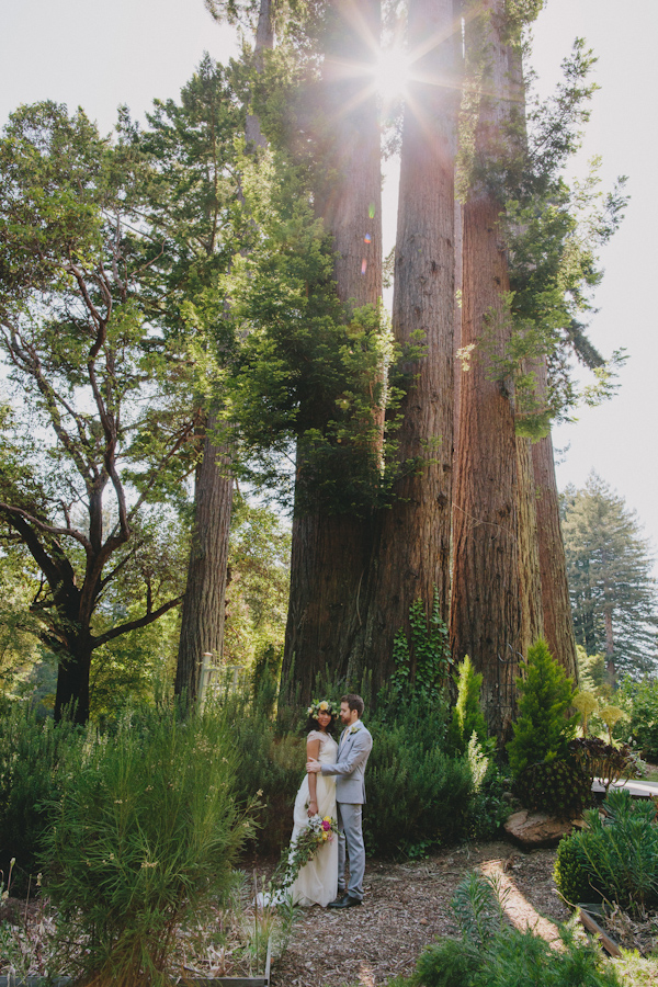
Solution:
<svg viewBox="0 0 658 987"><path fill-rule="evenodd" d="M329 734L320 730L311 730L307 740L319 740L320 752L318 760L321 764L334 764L338 755L338 744ZM318 813L337 818L336 815L336 779L332 775L325 778L320 772L317 778ZM306 774L293 812L293 836L291 844L295 842L303 829L308 826L308 775ZM321 905L326 908L329 901L333 901L338 894L338 836L333 836L324 847L320 847L313 860L302 867L296 881L291 888L293 900L296 905Z"/></svg>

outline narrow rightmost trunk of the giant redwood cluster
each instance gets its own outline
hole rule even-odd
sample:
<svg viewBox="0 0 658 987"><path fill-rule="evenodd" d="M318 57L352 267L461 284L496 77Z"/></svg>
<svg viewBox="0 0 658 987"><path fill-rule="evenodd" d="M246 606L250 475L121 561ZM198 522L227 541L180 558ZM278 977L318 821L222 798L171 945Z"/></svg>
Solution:
<svg viewBox="0 0 658 987"><path fill-rule="evenodd" d="M545 393L545 360L538 365L537 383L540 393ZM565 544L559 521L559 500L551 434L533 444L532 462L536 490L535 506L544 636L555 660L577 682L576 639L574 637L574 620L567 580Z"/></svg>

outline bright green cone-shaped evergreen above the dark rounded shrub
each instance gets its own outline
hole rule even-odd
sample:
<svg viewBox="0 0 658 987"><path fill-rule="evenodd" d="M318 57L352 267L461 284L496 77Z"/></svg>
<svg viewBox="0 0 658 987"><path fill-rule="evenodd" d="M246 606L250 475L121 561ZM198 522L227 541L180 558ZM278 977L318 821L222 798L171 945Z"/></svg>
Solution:
<svg viewBox="0 0 658 987"><path fill-rule="evenodd" d="M571 680L543 638L529 649L525 679L518 679L517 685L519 717L513 739L507 746L514 776L531 764L566 757L567 744L578 724L577 715L567 715L574 701Z"/></svg>

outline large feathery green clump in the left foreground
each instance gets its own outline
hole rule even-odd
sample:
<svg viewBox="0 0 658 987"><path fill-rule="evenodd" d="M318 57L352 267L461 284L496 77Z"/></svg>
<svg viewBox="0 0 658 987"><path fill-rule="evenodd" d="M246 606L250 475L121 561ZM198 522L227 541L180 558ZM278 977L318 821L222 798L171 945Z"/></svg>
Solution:
<svg viewBox="0 0 658 987"><path fill-rule="evenodd" d="M49 804L44 876L60 968L94 987L159 987L175 932L226 896L252 824L226 724L127 715Z"/></svg>

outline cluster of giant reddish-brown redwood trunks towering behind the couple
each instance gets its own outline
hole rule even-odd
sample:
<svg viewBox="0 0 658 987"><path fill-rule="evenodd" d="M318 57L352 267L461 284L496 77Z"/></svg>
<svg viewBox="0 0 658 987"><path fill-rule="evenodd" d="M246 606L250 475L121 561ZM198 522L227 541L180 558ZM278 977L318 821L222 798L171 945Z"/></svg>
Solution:
<svg viewBox="0 0 658 987"><path fill-rule="evenodd" d="M337 0L327 18L321 84L331 132L322 162L329 182L316 212L333 238L339 298L348 308L377 307L381 135L368 79L379 45L379 0ZM558 661L576 674L551 439L532 445L517 436L513 381L495 373L511 334L508 250L503 205L481 175L508 139L510 105L522 88L520 55L506 32L504 0L470 4L465 18L458 0L409 0L408 42L415 64L402 133L393 330L401 345L422 333L424 353L405 367L410 383L396 450L402 468L390 504L366 518L303 510L297 499L282 695L307 702L325 672L352 685L367 672L377 688L393 671L394 637L409 629L411 604L422 600L429 619L438 598L453 660L468 654L483 672L488 725L504 738L520 662L534 638L545 634ZM479 63L473 75L466 68L465 82L475 178L458 203L463 46L477 48ZM248 129L262 141L258 121ZM468 368L455 360L460 349ZM545 363L537 377L545 388ZM382 441L384 416L373 411ZM418 465L405 469L409 463ZM299 483L304 468L299 456ZM193 556L200 563L209 555L202 534L216 526L216 519L204 523L203 511L220 510L226 523L214 538L213 565L224 565L217 546L227 537L229 497L224 507L204 508L202 487ZM191 592L201 600L192 560ZM209 574L200 581L219 602L222 581ZM197 626L201 613L200 606ZM189 653L220 650L222 619L204 634L190 638Z"/></svg>

